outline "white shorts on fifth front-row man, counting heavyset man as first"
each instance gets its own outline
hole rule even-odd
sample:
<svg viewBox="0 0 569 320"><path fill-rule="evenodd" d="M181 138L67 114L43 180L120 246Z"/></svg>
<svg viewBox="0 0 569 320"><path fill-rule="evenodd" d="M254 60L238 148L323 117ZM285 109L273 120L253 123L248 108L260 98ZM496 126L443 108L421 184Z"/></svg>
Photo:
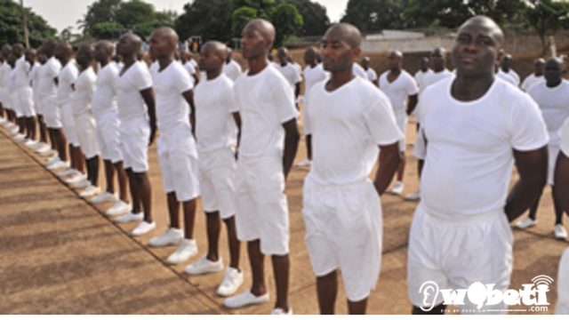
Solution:
<svg viewBox="0 0 569 320"><path fill-rule="evenodd" d="M194 138L191 132L186 134L166 136L160 133L157 141L158 159L164 191L175 192L180 202L192 200L199 196L199 181L197 179L196 148L190 148ZM172 137L172 138L171 138Z"/></svg>

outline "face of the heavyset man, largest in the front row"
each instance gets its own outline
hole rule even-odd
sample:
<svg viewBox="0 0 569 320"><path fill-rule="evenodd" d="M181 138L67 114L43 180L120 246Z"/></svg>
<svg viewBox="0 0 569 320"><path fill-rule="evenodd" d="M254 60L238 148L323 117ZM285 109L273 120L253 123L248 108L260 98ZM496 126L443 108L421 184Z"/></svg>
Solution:
<svg viewBox="0 0 569 320"><path fill-rule="evenodd" d="M500 59L496 30L478 21L459 29L453 46L453 65L463 75L493 73Z"/></svg>

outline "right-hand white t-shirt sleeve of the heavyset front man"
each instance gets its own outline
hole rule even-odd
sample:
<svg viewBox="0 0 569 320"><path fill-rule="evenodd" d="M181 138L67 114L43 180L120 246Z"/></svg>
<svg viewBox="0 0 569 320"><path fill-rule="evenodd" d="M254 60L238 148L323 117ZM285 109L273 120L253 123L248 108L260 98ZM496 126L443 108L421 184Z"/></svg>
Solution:
<svg viewBox="0 0 569 320"><path fill-rule="evenodd" d="M547 145L549 134L537 104L529 95L521 94L510 122L511 144L516 150L531 151Z"/></svg>

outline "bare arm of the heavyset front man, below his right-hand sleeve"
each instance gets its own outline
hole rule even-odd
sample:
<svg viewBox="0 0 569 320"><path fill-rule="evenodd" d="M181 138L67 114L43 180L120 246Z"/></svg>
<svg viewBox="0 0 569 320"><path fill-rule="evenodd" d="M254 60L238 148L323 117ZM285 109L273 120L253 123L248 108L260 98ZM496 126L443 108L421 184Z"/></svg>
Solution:
<svg viewBox="0 0 569 320"><path fill-rule="evenodd" d="M548 148L514 150L514 158L519 180L509 193L504 208L509 221L524 213L541 194L548 177Z"/></svg>

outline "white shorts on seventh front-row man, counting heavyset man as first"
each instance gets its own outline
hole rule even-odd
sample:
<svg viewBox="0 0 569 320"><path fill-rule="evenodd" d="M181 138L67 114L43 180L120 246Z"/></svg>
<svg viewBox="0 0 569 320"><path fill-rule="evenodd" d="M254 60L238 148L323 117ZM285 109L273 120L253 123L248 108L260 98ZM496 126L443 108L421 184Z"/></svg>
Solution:
<svg viewBox="0 0 569 320"><path fill-rule="evenodd" d="M123 161L120 148L120 121L116 113L98 116L95 120L100 156L103 160L109 160L113 164Z"/></svg>

